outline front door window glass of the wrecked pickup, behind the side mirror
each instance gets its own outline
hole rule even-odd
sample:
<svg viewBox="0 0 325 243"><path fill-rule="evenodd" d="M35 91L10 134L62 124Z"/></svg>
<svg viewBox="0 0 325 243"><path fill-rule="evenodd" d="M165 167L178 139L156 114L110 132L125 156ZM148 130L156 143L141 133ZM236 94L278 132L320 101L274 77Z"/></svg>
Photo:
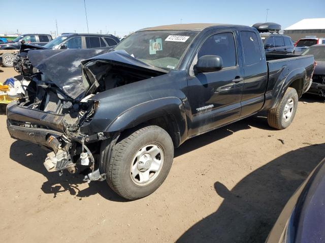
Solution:
<svg viewBox="0 0 325 243"><path fill-rule="evenodd" d="M211 35L201 46L198 59L205 55L216 55L222 58L223 67L236 66L236 45L233 33Z"/></svg>

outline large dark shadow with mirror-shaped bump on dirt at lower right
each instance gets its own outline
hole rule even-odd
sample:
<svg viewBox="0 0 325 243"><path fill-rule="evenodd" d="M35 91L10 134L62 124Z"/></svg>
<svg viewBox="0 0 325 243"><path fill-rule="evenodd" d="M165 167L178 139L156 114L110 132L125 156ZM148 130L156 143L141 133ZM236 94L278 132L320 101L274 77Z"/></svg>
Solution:
<svg viewBox="0 0 325 243"><path fill-rule="evenodd" d="M290 151L231 190L215 182L222 204L177 242L264 242L287 200L325 156L324 151L325 143Z"/></svg>

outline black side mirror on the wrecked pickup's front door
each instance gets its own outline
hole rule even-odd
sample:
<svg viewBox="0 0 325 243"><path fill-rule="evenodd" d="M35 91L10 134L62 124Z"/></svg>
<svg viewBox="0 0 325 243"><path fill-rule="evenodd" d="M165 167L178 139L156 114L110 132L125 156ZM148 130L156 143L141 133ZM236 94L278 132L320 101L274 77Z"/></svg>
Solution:
<svg viewBox="0 0 325 243"><path fill-rule="evenodd" d="M194 71L201 72L214 72L222 69L222 58L220 56L205 55L199 58Z"/></svg>

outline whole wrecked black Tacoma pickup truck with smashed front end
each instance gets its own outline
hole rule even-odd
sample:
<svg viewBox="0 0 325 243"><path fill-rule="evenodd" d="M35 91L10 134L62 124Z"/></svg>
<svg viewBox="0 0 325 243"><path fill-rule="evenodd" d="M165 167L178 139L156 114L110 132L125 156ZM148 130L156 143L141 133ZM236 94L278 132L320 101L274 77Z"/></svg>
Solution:
<svg viewBox="0 0 325 243"><path fill-rule="evenodd" d="M265 55L239 25L159 26L87 60L80 51L29 51L37 72L7 107L8 131L52 150L49 172L87 168L86 181L127 199L155 191L191 137L263 110L288 127L314 70L313 56Z"/></svg>

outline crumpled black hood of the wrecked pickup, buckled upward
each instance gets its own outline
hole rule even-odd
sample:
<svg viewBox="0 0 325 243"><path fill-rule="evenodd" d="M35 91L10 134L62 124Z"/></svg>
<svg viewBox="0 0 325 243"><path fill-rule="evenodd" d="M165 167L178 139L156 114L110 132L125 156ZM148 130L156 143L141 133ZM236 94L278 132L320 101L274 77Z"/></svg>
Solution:
<svg viewBox="0 0 325 243"><path fill-rule="evenodd" d="M154 72L167 73L167 70L150 66L130 56L125 51L66 49L31 50L28 52L30 63L46 76L46 80L59 87L73 99L80 100L87 90L82 81L82 64L92 60L105 60Z"/></svg>

